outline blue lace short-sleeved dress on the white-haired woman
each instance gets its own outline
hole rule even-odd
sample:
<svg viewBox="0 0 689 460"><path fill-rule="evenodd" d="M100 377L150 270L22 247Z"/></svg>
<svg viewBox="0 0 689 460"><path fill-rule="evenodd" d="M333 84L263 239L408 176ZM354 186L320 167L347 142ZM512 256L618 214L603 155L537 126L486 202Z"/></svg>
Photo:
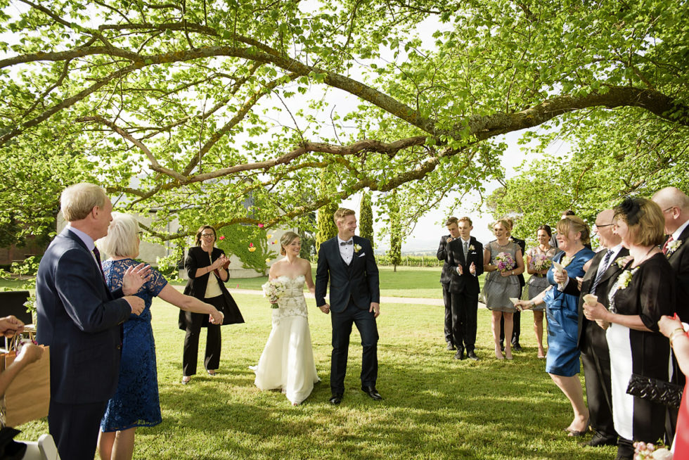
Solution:
<svg viewBox="0 0 689 460"><path fill-rule="evenodd" d="M139 264L133 259L106 260L103 262L105 282L110 290L122 286L124 271ZM155 364L155 343L150 327L150 304L165 288L167 281L155 270L141 286L137 296L146 308L138 317L129 316L124 322L120 381L115 395L108 401L101 421L103 432L120 431L136 426L155 426L162 421L158 397L158 374Z"/></svg>

